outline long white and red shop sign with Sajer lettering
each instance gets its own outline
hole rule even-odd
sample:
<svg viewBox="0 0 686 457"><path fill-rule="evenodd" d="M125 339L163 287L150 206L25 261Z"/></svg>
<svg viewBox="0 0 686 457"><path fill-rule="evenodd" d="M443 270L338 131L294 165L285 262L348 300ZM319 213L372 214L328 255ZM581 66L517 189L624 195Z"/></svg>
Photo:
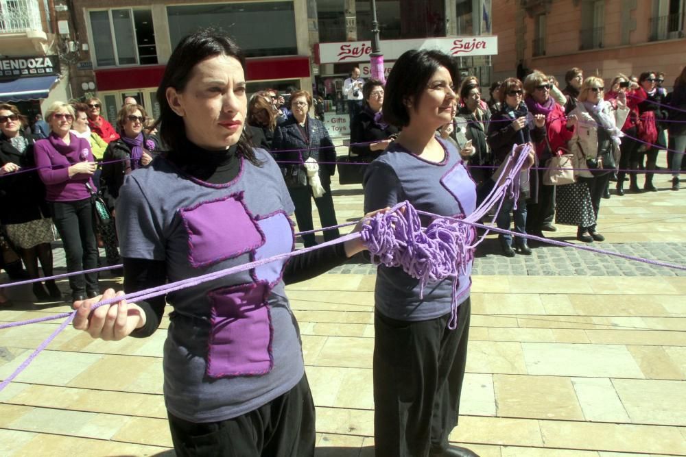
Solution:
<svg viewBox="0 0 686 457"><path fill-rule="evenodd" d="M412 40L382 40L383 58L397 60L409 49L440 49L454 57L496 55L497 36L447 36L442 38L416 38ZM370 41L353 41L319 44L320 64L366 62L372 53Z"/></svg>

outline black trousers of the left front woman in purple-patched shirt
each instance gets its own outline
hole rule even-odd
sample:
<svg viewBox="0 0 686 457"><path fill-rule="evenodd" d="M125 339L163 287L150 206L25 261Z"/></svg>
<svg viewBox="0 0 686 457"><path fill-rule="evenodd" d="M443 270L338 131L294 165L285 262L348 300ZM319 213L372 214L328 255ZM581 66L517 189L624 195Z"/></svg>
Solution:
<svg viewBox="0 0 686 457"><path fill-rule="evenodd" d="M315 412L306 375L281 397L226 421L195 423L167 414L179 457L314 456Z"/></svg>

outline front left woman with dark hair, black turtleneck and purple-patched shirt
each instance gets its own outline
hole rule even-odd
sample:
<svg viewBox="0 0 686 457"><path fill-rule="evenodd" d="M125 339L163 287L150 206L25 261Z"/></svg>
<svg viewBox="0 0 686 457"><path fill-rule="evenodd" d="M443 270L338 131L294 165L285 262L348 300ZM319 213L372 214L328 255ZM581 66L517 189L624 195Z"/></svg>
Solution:
<svg viewBox="0 0 686 457"><path fill-rule="evenodd" d="M117 199L124 291L293 249L293 203L279 167L249 146L245 60L216 32L183 38L157 91L168 153L130 173ZM164 394L178 456L312 456L314 403L284 283L362 250L359 238L136 304L75 303L94 338L150 336L167 304ZM303 260L300 260L303 257ZM119 293L121 294L121 293Z"/></svg>

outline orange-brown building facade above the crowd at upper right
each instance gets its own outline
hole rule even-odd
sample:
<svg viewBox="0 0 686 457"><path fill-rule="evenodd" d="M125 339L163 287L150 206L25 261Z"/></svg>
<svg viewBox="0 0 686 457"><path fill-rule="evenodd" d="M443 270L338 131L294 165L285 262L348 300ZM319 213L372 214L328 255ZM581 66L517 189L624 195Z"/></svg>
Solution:
<svg viewBox="0 0 686 457"><path fill-rule="evenodd" d="M555 75L567 69L606 81L617 73L663 71L671 87L686 64L685 0L499 0L493 33L496 79L518 64Z"/></svg>

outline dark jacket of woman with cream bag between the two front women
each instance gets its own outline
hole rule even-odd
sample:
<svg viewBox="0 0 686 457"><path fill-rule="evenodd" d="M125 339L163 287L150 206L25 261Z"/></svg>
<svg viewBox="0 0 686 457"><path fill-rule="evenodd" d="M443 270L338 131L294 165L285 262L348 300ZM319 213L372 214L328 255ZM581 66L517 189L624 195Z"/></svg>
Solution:
<svg viewBox="0 0 686 457"><path fill-rule="evenodd" d="M288 116L287 121L276 127L272 141L274 160L279 163L289 187L307 186L305 166L291 162L305 162L310 157L317 162L325 162L319 164L319 177L322 185L327 186L331 184L331 176L336 171L336 150L333 141L322 121L312 119L308 115L305 127L307 132L303 132L292 114ZM283 150L289 151L280 152Z"/></svg>

